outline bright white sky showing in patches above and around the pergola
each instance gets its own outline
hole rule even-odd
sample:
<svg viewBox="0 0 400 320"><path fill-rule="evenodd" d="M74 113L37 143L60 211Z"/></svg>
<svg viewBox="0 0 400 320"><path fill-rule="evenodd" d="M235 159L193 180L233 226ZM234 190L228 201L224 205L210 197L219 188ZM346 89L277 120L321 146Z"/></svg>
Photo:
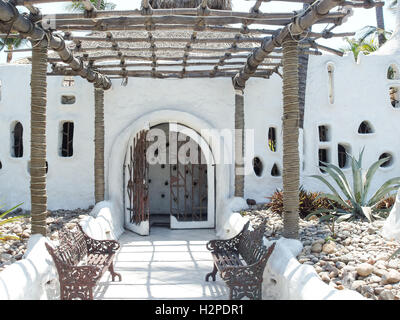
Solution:
<svg viewBox="0 0 400 320"><path fill-rule="evenodd" d="M127 9L136 9L140 7L140 0L109 0L116 4L116 10L127 10ZM232 0L233 10L234 11L242 11L248 12L250 8L254 5L254 0ZM65 12L65 8L68 2L60 2L56 4L40 4L37 7L40 8L43 14L52 14L52 13L62 13ZM386 4L383 9L384 20L385 20L385 29L388 31L392 31L395 27L395 13L393 10L388 8L389 0L386 0ZM264 2L261 4L260 10L261 12L291 12L294 10L301 9L302 4L299 3L288 3L281 1L271 1ZM348 18L346 23L343 25L336 27L334 32L356 32L367 25L376 25L376 17L375 17L375 9L353 9L353 15ZM326 25L316 25L313 26L313 31L321 31ZM271 29L268 26L269 29ZM328 40L321 39L317 41L322 45L326 45L332 48L343 48L345 46L345 42L340 38L331 38ZM22 57L30 56L29 52L20 52L14 53L13 59L18 59ZM0 63L6 61L6 53L4 51L0 52Z"/></svg>

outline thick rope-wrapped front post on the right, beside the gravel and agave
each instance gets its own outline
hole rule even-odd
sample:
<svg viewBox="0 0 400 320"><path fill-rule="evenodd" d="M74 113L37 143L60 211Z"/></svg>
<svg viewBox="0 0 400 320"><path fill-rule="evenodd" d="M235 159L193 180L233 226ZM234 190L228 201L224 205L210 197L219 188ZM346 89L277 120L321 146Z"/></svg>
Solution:
<svg viewBox="0 0 400 320"><path fill-rule="evenodd" d="M299 67L298 42L287 36L283 48L283 236L299 233Z"/></svg>

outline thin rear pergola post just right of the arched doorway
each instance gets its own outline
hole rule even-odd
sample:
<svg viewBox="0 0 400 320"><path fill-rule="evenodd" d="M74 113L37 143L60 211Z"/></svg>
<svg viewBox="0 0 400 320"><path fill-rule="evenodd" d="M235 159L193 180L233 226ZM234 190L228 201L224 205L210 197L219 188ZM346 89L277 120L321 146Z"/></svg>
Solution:
<svg viewBox="0 0 400 320"><path fill-rule="evenodd" d="M244 197L244 93L235 90L235 197Z"/></svg>

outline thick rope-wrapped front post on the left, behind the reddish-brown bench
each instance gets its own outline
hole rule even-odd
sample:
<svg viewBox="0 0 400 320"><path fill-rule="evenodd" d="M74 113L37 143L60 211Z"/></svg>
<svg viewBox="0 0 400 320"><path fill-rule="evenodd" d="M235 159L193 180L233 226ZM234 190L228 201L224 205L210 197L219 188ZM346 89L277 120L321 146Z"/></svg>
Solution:
<svg viewBox="0 0 400 320"><path fill-rule="evenodd" d="M47 41L32 43L31 73L31 233L46 236Z"/></svg>

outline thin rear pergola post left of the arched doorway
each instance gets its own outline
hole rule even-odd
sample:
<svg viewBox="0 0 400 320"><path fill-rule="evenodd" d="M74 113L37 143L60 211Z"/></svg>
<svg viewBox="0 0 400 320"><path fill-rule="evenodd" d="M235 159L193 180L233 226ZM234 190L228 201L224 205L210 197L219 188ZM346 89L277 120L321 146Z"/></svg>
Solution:
<svg viewBox="0 0 400 320"><path fill-rule="evenodd" d="M104 200L104 90L94 89L94 197Z"/></svg>

